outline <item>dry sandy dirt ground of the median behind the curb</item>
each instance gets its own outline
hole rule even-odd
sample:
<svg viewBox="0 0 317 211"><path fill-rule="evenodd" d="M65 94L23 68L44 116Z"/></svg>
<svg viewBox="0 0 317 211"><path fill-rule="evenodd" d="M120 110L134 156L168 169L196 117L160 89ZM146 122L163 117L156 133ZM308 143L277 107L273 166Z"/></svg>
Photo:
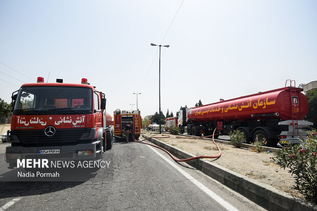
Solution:
<svg viewBox="0 0 317 211"><path fill-rule="evenodd" d="M145 132L150 136L161 136L158 133ZM157 138L162 142L174 146L175 148L187 151L193 155L218 155L216 145L210 140L203 139L185 139L175 138ZM217 143L217 142L216 142ZM291 194L292 196L304 199L303 195L293 189L295 179L287 172L287 169L281 169L273 162L271 157L274 153L257 153L246 148L235 148L232 145L217 143L221 150L219 159L207 159L217 165L227 168L231 171L245 175L260 182L269 184L280 191Z"/></svg>

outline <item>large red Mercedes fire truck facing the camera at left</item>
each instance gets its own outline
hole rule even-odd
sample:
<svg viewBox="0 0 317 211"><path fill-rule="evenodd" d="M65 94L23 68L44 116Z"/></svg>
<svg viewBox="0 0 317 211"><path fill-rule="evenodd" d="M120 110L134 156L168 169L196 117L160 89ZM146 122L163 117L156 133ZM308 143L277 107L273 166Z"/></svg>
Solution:
<svg viewBox="0 0 317 211"><path fill-rule="evenodd" d="M17 159L43 156L65 159L101 159L112 147L111 115L106 113L105 94L90 85L24 84L12 93L12 123L6 148L10 169ZM46 154L46 155L44 155ZM54 155L50 155L54 154Z"/></svg>

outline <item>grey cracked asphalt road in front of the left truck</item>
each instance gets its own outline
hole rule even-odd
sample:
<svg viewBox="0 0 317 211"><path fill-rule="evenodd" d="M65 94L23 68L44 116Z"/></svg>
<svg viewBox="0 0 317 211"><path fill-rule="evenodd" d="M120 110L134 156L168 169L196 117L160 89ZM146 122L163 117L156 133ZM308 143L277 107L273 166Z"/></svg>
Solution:
<svg viewBox="0 0 317 211"><path fill-rule="evenodd" d="M0 180L6 170L0 144ZM1 210L264 210L186 163L115 140L109 168L84 182L0 182Z"/></svg>

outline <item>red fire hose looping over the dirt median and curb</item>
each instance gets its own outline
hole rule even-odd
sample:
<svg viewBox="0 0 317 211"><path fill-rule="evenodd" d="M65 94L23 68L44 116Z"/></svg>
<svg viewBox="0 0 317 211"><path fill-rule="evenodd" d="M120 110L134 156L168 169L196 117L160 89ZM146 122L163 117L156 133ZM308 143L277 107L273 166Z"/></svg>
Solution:
<svg viewBox="0 0 317 211"><path fill-rule="evenodd" d="M173 160L175 160L175 161L177 161L177 162L185 162L185 161L188 161L188 160L195 160L195 159L200 159L200 158L219 158L220 156L221 156L221 150L220 150L220 147L217 145L217 143L215 142L215 139L214 139L214 135L215 135L215 131L216 130L214 130L214 132L213 132L213 134L212 134L212 140L213 140L213 142L214 142L214 144L217 146L217 148L218 148L218 151L219 151L219 154L218 155L216 155L216 156L197 156L197 157L191 157L191 158L186 158L186 159L178 159L178 158L176 158L176 157L174 157L169 151L167 151L166 149L164 149L164 148L162 148L162 147L159 147L159 146L156 146L156 145L153 145L153 144L149 144L149 143L144 143L143 141L144 140L147 140L147 139L149 139L149 138L169 138L170 136L169 135L164 135L164 134L162 134L163 136L166 136L166 137L155 137L155 136L152 136L152 137L148 137L148 138L146 138L146 139L144 139L144 140L137 140L137 139L135 139L134 138L134 134L132 133L132 137L133 137L133 140L135 141L135 142L138 142L138 143L142 143L142 144L147 144L147 145L150 145L150 146L152 146L152 147L156 147L156 148L159 148L159 149L161 149L161 150L164 150L166 153L168 153L170 156L171 156L171 158L173 158ZM210 135L211 136L211 135ZM178 138L179 138L180 136L178 136ZM209 136L205 136L205 137L209 137ZM187 138L187 137L186 137ZM196 138L196 137L195 137ZM197 138L201 138L201 137L197 137Z"/></svg>

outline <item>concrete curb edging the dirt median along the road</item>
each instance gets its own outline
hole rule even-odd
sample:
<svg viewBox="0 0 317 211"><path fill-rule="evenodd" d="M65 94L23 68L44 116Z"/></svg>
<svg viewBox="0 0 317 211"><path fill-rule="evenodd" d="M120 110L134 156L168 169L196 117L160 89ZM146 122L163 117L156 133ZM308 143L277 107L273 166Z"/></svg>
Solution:
<svg viewBox="0 0 317 211"><path fill-rule="evenodd" d="M145 138L149 137L145 134L142 134L142 136ZM155 138L150 138L148 140L153 144L168 150L179 159L195 157L195 155L160 142L160 140ZM317 210L316 205L281 192L270 185L250 179L229 169L225 169L205 159L190 160L187 163L266 209L277 211Z"/></svg>

